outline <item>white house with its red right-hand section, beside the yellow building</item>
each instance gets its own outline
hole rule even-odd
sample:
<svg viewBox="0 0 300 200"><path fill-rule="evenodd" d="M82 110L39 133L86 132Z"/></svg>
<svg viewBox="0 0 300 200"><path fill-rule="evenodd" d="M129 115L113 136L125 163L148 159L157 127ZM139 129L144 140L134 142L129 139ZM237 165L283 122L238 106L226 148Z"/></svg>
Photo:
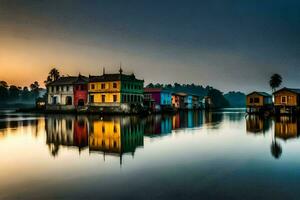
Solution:
<svg viewBox="0 0 300 200"><path fill-rule="evenodd" d="M47 85L48 110L73 110L87 101L88 79L84 76L66 76Z"/></svg>

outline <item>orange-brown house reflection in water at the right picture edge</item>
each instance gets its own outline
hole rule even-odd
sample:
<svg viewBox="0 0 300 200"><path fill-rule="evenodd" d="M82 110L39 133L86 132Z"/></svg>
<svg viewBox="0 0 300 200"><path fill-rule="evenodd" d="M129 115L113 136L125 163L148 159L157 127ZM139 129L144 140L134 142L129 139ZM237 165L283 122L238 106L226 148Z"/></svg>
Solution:
<svg viewBox="0 0 300 200"><path fill-rule="evenodd" d="M287 140L299 135L299 122L294 117L281 116L275 121L275 137Z"/></svg>

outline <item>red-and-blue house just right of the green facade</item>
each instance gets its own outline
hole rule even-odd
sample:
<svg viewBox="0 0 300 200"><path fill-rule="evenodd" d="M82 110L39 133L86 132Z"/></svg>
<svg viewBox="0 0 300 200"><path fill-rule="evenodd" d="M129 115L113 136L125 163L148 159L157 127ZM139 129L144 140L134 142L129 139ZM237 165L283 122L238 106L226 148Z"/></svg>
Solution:
<svg viewBox="0 0 300 200"><path fill-rule="evenodd" d="M172 108L172 93L163 88L145 88L144 102L154 111Z"/></svg>

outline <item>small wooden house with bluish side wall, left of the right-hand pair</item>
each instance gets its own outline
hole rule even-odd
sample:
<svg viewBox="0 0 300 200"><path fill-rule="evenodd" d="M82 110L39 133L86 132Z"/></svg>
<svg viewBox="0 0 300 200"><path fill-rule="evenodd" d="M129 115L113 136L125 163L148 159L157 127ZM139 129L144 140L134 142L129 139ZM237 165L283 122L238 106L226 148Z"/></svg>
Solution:
<svg viewBox="0 0 300 200"><path fill-rule="evenodd" d="M248 113L259 113L272 109L272 96L265 92L252 92L247 95Z"/></svg>

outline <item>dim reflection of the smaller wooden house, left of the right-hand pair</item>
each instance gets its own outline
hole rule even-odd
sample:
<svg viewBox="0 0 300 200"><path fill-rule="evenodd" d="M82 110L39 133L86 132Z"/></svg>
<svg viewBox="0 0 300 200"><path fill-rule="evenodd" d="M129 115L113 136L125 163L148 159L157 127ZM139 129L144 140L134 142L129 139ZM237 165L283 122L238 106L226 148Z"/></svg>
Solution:
<svg viewBox="0 0 300 200"><path fill-rule="evenodd" d="M249 115L246 118L246 129L250 133L265 133L270 129L270 120L259 115Z"/></svg>

